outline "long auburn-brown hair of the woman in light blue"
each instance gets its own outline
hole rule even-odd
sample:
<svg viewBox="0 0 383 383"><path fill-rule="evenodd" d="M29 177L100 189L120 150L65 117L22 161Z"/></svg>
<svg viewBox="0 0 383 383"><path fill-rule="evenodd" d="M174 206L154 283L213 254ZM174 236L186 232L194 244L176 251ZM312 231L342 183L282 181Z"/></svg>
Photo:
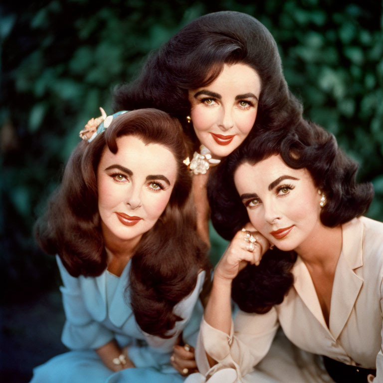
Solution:
<svg viewBox="0 0 383 383"><path fill-rule="evenodd" d="M173 313L174 305L192 292L198 272L210 269L206 245L196 232L192 180L183 164L185 137L177 119L156 109L135 110L115 118L92 142L80 142L67 162L61 185L35 225L35 237L46 253L60 256L74 277L94 277L106 269L97 168L103 151L117 153L119 137L129 135L145 144L165 146L178 165L167 207L135 249L128 286L141 329L168 338L182 319Z"/></svg>

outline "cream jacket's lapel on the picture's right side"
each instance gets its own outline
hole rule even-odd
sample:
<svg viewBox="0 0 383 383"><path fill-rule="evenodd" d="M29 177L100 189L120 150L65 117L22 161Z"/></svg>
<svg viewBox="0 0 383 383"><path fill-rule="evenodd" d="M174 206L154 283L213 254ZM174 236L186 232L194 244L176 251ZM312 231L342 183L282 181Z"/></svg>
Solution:
<svg viewBox="0 0 383 383"><path fill-rule="evenodd" d="M330 307L330 330L337 339L345 327L363 285L354 270L363 265L363 223L353 219L342 225L342 252L335 270Z"/></svg>

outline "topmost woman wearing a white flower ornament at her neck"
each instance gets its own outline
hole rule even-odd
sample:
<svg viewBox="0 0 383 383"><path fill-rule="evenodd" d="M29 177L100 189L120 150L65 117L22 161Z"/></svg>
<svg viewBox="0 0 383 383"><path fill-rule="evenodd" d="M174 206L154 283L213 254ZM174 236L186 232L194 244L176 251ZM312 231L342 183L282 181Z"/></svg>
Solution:
<svg viewBox="0 0 383 383"><path fill-rule="evenodd" d="M192 142L197 227L206 243L209 167L251 132L288 129L302 118L272 35L254 17L234 11L185 26L149 57L133 83L116 89L114 101L116 110L154 107L181 121Z"/></svg>

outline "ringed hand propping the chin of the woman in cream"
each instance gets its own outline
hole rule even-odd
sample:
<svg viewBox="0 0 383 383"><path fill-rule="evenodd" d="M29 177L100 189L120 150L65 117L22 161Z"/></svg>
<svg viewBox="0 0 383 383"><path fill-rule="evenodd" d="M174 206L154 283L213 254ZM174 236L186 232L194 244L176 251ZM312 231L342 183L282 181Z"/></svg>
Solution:
<svg viewBox="0 0 383 383"><path fill-rule="evenodd" d="M214 279L232 281L246 265L259 265L268 250L268 240L251 223L239 230L231 240L214 271Z"/></svg>

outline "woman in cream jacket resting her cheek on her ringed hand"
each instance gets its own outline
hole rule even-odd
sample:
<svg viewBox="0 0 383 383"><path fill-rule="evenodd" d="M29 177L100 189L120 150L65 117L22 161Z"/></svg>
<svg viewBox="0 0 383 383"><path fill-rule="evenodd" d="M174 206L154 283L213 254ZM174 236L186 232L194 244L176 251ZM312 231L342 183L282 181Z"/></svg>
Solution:
<svg viewBox="0 0 383 383"><path fill-rule="evenodd" d="M383 382L383 223L362 216L373 187L357 168L311 124L259 135L214 172L212 220L231 243L196 349L208 382ZM273 342L279 325L291 344Z"/></svg>

